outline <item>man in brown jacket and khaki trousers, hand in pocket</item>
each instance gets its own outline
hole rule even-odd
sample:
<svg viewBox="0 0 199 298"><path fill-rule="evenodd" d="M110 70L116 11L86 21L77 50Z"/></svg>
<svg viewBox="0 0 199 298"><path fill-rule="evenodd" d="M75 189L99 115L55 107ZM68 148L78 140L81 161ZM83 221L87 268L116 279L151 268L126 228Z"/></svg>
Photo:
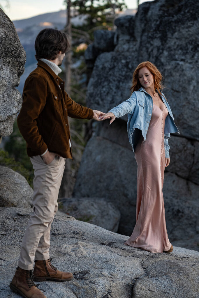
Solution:
<svg viewBox="0 0 199 298"><path fill-rule="evenodd" d="M50 228L58 210L57 198L65 159L72 159L67 117L99 120L100 115L104 115L75 103L64 91L58 66L69 46L67 35L59 30L39 32L35 41L38 67L25 81L22 108L17 118L34 169L34 209L10 288L27 298L46 297L36 288L33 278L36 281L73 278L72 273L55 268L49 256Z"/></svg>

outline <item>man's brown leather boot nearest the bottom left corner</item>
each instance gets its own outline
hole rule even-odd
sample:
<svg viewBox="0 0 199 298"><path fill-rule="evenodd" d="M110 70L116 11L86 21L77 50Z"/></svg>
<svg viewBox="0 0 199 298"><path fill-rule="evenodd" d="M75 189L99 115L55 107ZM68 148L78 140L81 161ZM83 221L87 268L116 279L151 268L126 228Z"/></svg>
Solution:
<svg viewBox="0 0 199 298"><path fill-rule="evenodd" d="M13 280L10 283L13 292L24 298L47 298L33 282L32 270L17 267Z"/></svg>

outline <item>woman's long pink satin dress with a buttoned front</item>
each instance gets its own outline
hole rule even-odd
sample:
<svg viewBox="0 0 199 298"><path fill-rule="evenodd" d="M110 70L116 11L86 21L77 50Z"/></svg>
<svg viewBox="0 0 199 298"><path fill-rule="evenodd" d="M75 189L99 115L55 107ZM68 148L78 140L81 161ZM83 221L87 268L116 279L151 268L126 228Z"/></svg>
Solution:
<svg viewBox="0 0 199 298"><path fill-rule="evenodd" d="M163 252L171 247L164 215L163 179L165 169L164 125L168 115L153 104L152 117L146 134L135 147L137 173L136 224L131 237L124 243L149 252Z"/></svg>

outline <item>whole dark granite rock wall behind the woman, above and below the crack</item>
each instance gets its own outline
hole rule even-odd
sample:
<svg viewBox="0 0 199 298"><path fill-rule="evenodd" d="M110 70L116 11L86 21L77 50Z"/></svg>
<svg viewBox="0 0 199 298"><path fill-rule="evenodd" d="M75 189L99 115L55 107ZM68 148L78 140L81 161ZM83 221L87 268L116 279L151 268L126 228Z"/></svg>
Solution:
<svg viewBox="0 0 199 298"><path fill-rule="evenodd" d="M163 93L180 131L179 135L171 134L169 139L171 160L165 169L163 187L166 224L169 239L176 241L175 245L196 250L199 249L194 219L198 212L199 184L196 129L199 93L195 76L199 68L198 11L198 1L190 0L187 4L185 0L159 0L139 5L135 16L117 18L115 48L98 54L87 91L87 105L107 112L131 95L132 74L140 62L149 60L161 71L166 86ZM100 189L100 196L120 210L118 231L130 235L136 216L137 164L129 145L126 122L127 115L112 125L107 120L93 126L74 195L92 198L92 185L95 185L95 191ZM95 161L94 169L90 167L90 160ZM183 226L188 226L192 236L184 233Z"/></svg>

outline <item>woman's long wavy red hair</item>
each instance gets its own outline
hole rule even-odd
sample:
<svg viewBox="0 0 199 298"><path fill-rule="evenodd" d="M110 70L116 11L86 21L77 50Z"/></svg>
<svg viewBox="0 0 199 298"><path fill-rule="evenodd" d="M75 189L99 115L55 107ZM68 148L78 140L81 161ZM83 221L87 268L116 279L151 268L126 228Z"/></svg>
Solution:
<svg viewBox="0 0 199 298"><path fill-rule="evenodd" d="M144 66L146 66L153 75L154 91L157 89L158 92L161 94L161 90L163 89L163 85L162 85L163 76L161 75L161 73L159 72L157 67L149 61L144 61L136 67L136 69L133 73L131 92L133 93L134 91L138 91L138 89L140 89L140 87L142 87L142 85L138 79L138 72ZM165 99L166 99L166 97L165 97Z"/></svg>

